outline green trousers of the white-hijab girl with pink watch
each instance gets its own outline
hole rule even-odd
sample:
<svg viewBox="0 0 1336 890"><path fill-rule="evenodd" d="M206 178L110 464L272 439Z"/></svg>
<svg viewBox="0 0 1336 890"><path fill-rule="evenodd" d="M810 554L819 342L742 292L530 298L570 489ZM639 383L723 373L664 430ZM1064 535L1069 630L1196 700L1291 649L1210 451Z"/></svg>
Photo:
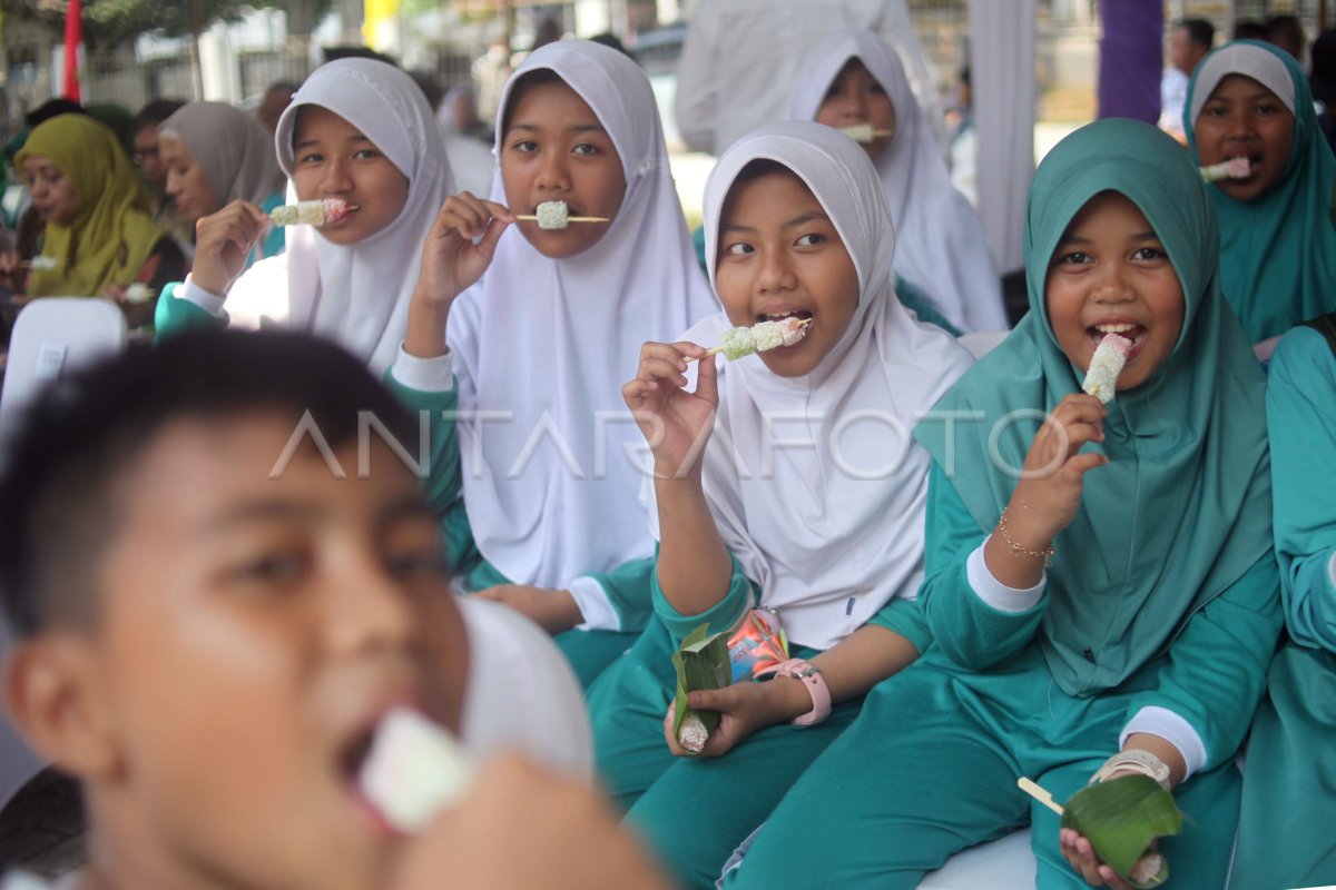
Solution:
<svg viewBox="0 0 1336 890"><path fill-rule="evenodd" d="M627 811L627 825L680 886L713 887L733 849L852 723L862 701L836 706L818 726L764 729L720 758L673 757L663 730L675 685L673 648L656 618L589 690L595 750L600 778Z"/></svg>

